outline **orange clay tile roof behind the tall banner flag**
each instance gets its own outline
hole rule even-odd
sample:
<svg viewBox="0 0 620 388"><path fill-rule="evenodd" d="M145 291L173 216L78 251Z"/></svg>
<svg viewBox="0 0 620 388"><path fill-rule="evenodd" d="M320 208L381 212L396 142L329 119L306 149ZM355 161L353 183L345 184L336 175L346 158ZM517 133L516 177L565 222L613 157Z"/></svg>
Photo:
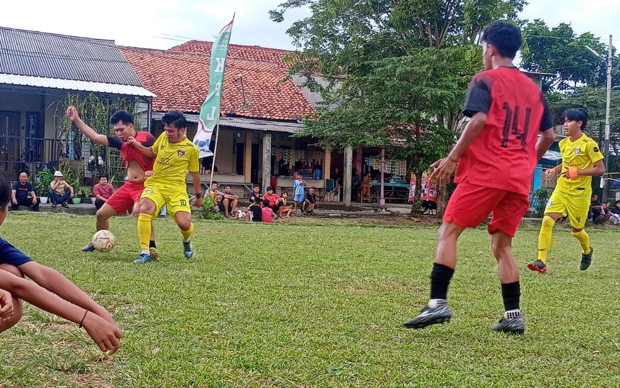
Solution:
<svg viewBox="0 0 620 388"><path fill-rule="evenodd" d="M211 48L210 42L200 43L209 43ZM208 93L210 55L182 52L178 47L174 51L118 48L144 87L157 95L153 99L155 112L170 109L200 112ZM260 50L265 50L262 56ZM241 59L244 52L248 60ZM283 81L288 69L277 52L286 53L285 50L231 45L224 74L221 113L268 120L300 120L314 112L301 89L290 79ZM276 58L280 58L280 62Z"/></svg>

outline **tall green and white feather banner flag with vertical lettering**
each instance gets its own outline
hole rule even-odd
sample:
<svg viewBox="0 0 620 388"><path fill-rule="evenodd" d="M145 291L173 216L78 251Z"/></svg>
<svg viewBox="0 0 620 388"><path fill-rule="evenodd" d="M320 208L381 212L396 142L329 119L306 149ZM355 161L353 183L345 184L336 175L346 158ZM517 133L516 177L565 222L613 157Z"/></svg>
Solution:
<svg viewBox="0 0 620 388"><path fill-rule="evenodd" d="M232 20L234 21L234 19ZM228 42L231 38L232 21L219 32L218 38L211 46L211 66L209 69L209 93L200 108L198 131L193 143L200 149L199 157L213 155L209 149L211 135L219 120L219 105L222 100L222 85L224 83L224 67L228 55Z"/></svg>

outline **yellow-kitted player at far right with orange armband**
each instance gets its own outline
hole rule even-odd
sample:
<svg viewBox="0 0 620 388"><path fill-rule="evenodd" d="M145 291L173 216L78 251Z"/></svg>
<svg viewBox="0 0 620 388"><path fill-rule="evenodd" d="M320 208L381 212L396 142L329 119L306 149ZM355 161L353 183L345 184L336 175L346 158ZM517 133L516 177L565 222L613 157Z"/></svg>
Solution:
<svg viewBox="0 0 620 388"><path fill-rule="evenodd" d="M588 138L582 131L588 123L588 112L583 108L573 108L562 113L564 117L564 131L567 138L560 141L562 164L551 170L546 170L547 178L551 178L561 169L557 185L542 218L541 231L538 236L538 260L528 264L532 271L547 272L547 251L551 245L551 232L554 224L560 217L569 217L573 236L582 247L582 260L579 269L585 271L590 267L592 247L590 236L583 230L590 210L592 195L592 177L603 175L603 154L598 144Z"/></svg>

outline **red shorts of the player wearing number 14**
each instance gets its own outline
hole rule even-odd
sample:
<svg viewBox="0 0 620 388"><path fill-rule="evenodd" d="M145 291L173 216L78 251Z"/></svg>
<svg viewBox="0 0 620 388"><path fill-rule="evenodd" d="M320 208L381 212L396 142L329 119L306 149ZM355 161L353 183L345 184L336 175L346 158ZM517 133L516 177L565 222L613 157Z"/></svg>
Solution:
<svg viewBox="0 0 620 388"><path fill-rule="evenodd" d="M452 194L443 221L461 227L476 227L493 213L489 233L502 231L515 237L529 208L529 196L498 188L460 183Z"/></svg>

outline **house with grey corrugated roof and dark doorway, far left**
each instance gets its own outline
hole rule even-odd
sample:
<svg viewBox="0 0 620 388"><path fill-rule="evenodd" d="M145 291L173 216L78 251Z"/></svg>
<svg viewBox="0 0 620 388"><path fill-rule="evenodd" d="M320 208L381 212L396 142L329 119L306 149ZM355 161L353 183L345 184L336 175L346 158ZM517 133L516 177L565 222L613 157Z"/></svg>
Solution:
<svg viewBox="0 0 620 388"><path fill-rule="evenodd" d="M145 113L155 96L112 40L0 27L0 169L16 179L59 154L76 168L89 164L89 142L82 143L77 128L61 134L59 127L67 96L91 94L106 107L118 99L139 100ZM102 121L97 129L108 131Z"/></svg>

